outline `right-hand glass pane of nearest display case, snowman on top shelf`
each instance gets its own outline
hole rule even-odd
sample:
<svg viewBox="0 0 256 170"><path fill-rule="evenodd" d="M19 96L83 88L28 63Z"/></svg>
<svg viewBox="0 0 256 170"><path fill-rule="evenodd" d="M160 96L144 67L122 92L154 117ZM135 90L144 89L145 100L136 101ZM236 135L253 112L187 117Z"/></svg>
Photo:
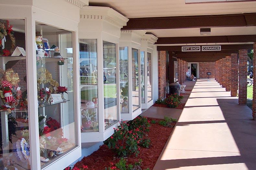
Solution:
<svg viewBox="0 0 256 170"><path fill-rule="evenodd" d="M73 38L70 31L36 22L41 166L76 146L73 100Z"/></svg>

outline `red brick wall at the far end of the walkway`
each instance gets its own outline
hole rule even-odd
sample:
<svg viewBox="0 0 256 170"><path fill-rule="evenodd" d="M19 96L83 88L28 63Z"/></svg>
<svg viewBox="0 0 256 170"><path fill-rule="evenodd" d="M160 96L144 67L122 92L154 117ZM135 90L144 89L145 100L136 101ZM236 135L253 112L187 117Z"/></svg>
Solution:
<svg viewBox="0 0 256 170"><path fill-rule="evenodd" d="M209 78L215 78L215 62L199 62L199 77L208 78L207 72L211 72Z"/></svg>

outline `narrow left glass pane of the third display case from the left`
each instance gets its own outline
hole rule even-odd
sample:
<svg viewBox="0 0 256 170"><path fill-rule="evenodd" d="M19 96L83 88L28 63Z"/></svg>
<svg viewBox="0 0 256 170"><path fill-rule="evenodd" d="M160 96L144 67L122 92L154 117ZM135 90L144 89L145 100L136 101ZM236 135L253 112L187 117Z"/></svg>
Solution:
<svg viewBox="0 0 256 170"><path fill-rule="evenodd" d="M129 113L129 83L128 83L128 47L119 47L120 51L120 108L122 113Z"/></svg>

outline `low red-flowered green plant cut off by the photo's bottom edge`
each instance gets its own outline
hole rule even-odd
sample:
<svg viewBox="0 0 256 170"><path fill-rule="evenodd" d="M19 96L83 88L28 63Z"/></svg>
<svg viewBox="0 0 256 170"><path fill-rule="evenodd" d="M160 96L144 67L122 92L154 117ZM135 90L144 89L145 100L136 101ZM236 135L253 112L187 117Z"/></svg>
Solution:
<svg viewBox="0 0 256 170"><path fill-rule="evenodd" d="M141 163L142 160L140 159L139 162L135 162L134 165L129 164L126 165L127 161L124 158L121 158L120 161L118 163L115 164L115 166L113 165L113 163L110 162L110 166L105 167L105 170L141 170ZM149 170L149 168L145 169L145 170Z"/></svg>

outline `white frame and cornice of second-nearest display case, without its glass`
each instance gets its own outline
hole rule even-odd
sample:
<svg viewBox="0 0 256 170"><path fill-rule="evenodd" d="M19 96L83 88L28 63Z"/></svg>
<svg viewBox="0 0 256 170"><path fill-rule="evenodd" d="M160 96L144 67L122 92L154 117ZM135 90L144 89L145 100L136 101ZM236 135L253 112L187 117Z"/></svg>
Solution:
<svg viewBox="0 0 256 170"><path fill-rule="evenodd" d="M90 17L90 16L95 17ZM119 37L121 27L126 25L128 19L108 7L88 6L80 10L79 39L96 39L98 53L98 77L103 74L103 41L115 44L116 70L119 70ZM114 51L112 50L111 53ZM119 77L119 72L116 72ZM120 91L119 79L116 78L117 92ZM104 115L104 79L98 79L98 111L99 111L99 131L81 133L82 143L104 141L114 133L113 128L117 128L120 118L120 105L117 105L118 120L109 128L105 129ZM120 94L116 92L117 103L120 102Z"/></svg>

